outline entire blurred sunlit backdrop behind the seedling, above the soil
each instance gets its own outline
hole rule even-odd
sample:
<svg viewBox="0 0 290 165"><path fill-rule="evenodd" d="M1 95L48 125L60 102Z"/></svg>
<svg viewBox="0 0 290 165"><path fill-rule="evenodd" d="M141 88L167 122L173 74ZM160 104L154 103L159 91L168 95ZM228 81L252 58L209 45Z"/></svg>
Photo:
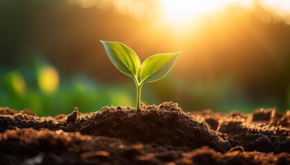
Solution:
<svg viewBox="0 0 290 165"><path fill-rule="evenodd" d="M290 109L288 0L0 0L0 105L37 115L135 107L99 40L144 61L182 51L142 102L184 111Z"/></svg>

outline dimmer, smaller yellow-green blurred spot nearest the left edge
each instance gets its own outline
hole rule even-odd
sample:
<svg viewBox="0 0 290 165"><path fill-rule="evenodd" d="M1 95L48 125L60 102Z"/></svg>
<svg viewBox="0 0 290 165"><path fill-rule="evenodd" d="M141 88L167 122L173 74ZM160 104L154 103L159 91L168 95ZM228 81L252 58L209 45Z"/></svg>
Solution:
<svg viewBox="0 0 290 165"><path fill-rule="evenodd" d="M19 72L13 72L11 74L11 84L17 95L23 96L23 94L25 94L26 83L23 76Z"/></svg>

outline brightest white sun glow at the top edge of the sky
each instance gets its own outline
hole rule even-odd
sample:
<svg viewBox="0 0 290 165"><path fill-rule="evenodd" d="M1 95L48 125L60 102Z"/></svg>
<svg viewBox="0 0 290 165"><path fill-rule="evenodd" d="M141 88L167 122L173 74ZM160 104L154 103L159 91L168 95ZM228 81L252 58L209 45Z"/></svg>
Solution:
<svg viewBox="0 0 290 165"><path fill-rule="evenodd" d="M252 6L253 1L191 1L191 0L161 0L163 10L162 24L173 25L177 30L186 30L202 18L224 10L229 5L239 5L244 8Z"/></svg>

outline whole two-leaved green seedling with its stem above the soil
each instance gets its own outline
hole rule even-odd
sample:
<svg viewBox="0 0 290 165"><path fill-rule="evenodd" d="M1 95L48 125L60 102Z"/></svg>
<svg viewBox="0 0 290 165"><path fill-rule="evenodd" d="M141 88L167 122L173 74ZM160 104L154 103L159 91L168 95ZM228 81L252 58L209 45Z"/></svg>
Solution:
<svg viewBox="0 0 290 165"><path fill-rule="evenodd" d="M115 67L134 79L137 88L137 110L140 109L142 85L164 78L181 53L155 54L148 57L141 65L137 54L124 43L107 41L101 41L101 43Z"/></svg>

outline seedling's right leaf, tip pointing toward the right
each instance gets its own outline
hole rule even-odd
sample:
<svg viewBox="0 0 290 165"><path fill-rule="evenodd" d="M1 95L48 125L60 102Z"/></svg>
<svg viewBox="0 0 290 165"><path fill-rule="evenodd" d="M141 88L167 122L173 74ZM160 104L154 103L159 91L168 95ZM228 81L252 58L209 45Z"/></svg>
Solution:
<svg viewBox="0 0 290 165"><path fill-rule="evenodd" d="M150 83L164 78L181 52L155 54L147 58L140 68L141 82Z"/></svg>

